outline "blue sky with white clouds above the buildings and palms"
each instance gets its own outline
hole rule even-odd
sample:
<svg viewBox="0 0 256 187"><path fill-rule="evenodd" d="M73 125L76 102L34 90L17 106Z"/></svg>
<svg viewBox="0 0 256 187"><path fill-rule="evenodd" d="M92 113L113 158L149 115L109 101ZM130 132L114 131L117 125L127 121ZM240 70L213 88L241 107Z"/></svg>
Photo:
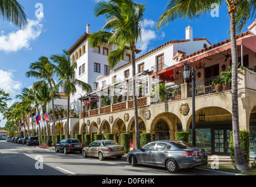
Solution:
<svg viewBox="0 0 256 187"><path fill-rule="evenodd" d="M101 30L105 20L94 18L94 6L97 0L23 0L19 3L25 8L30 27L19 30L11 23L0 19L0 88L10 93L15 102L15 95L24 87L29 87L36 81L26 78L29 64L37 61L40 56L50 57L60 54L63 49L69 49L76 40L86 32L86 25L91 25L91 32ZM156 32L156 22L165 11L168 0L138 0L146 4L145 27L143 39L137 48L142 54L161 46L170 40L185 39L185 28L193 27L193 37L206 37L212 44L228 39L229 19L226 5L220 9L219 17L205 16L202 19L188 22L177 20ZM43 6L43 18L37 18L37 3ZM252 20L248 23L248 25ZM244 31L247 30L245 27ZM0 116L0 118L2 118ZM5 121L0 122L4 126Z"/></svg>

